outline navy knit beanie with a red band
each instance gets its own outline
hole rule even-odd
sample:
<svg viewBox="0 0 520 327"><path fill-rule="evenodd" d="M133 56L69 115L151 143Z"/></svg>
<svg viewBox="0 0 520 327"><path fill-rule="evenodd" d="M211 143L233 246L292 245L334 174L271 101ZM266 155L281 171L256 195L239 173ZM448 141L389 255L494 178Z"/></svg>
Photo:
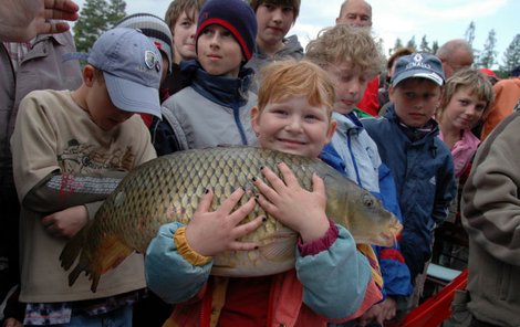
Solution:
<svg viewBox="0 0 520 327"><path fill-rule="evenodd" d="M202 30L218 24L227 29L240 44L243 56L249 61L257 44L257 15L243 0L208 0L200 9L196 42ZM197 50L197 48L196 48Z"/></svg>

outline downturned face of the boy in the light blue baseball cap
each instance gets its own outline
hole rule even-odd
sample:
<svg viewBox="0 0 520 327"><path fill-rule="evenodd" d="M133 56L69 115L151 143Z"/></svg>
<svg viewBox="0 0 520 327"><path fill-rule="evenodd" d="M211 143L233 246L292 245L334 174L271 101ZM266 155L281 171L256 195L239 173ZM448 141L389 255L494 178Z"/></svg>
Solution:
<svg viewBox="0 0 520 327"><path fill-rule="evenodd" d="M134 115L134 113L124 112L114 106L104 82L92 81L85 96L85 109L92 120L103 130L111 130Z"/></svg>

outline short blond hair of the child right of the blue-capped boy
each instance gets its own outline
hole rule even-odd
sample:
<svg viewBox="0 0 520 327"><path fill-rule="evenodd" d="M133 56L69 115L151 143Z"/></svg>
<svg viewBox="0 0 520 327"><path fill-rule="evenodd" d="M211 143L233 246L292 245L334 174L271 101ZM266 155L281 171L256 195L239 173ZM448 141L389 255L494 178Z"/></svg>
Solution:
<svg viewBox="0 0 520 327"><path fill-rule="evenodd" d="M437 118L440 120L444 108L446 108L457 91L468 88L471 94L476 94L479 101L486 102L483 113L486 113L495 101L495 92L488 77L475 68L464 68L455 73L446 81L444 86L440 108Z"/></svg>

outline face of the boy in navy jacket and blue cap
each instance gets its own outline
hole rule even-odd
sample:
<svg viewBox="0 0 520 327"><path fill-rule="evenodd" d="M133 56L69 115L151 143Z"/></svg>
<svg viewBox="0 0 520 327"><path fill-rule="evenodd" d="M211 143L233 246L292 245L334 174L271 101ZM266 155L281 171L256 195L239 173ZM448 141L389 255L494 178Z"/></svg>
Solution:
<svg viewBox="0 0 520 327"><path fill-rule="evenodd" d="M409 127L423 127L435 114L441 95L438 84L415 77L391 86L388 92L396 115Z"/></svg>

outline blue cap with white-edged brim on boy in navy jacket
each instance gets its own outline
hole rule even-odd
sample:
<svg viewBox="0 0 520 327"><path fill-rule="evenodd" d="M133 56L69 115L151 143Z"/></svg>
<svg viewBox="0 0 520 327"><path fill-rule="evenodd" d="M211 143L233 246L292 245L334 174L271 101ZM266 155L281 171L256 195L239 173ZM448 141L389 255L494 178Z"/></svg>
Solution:
<svg viewBox="0 0 520 327"><path fill-rule="evenodd" d="M445 81L443 63L437 56L429 53L412 53L402 56L395 65L392 85L395 86L410 77L427 78L443 86Z"/></svg>

